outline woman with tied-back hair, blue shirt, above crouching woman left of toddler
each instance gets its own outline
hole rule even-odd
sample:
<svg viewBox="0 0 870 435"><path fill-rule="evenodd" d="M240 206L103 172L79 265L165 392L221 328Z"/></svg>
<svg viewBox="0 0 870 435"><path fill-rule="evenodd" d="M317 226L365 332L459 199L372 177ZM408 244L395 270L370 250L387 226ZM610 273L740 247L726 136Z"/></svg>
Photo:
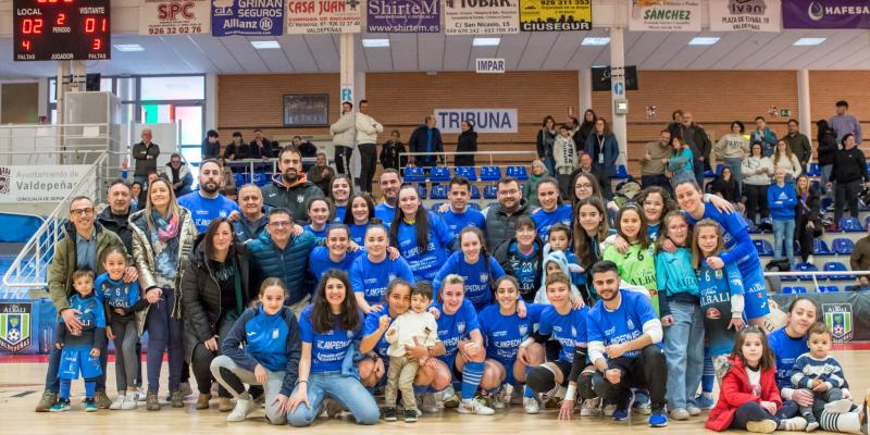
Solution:
<svg viewBox="0 0 870 435"><path fill-rule="evenodd" d="M365 251L350 265L350 283L357 304L364 314L383 310L384 294L394 278L414 282L411 266L401 257L388 256L389 236L380 223L365 232Z"/></svg>

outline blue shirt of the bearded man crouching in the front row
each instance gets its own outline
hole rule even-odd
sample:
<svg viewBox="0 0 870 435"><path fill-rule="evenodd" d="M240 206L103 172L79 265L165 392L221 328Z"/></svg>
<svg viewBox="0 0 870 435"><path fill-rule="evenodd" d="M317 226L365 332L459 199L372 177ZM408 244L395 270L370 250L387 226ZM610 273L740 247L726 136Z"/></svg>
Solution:
<svg viewBox="0 0 870 435"><path fill-rule="evenodd" d="M604 300L589 311L589 341L601 341L605 346L629 343L644 335L644 323L657 320L649 297L637 291L619 290L621 300L616 311L605 308ZM661 343L658 344L661 347ZM637 358L642 350L631 350L623 356Z"/></svg>

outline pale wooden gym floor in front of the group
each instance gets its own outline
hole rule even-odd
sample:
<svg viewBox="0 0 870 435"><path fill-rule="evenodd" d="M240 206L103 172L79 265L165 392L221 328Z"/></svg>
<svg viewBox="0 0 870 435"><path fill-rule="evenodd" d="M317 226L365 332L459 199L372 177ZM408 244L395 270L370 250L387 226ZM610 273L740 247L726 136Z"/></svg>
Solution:
<svg viewBox="0 0 870 435"><path fill-rule="evenodd" d="M868 349L870 346L857 346ZM855 348L855 346L850 346ZM836 358L846 370L852 391L863 397L870 388L870 350L836 350ZM109 364L109 397L114 398L114 371ZM165 365L164 365L165 366ZM119 434L286 434L296 431L288 426L273 426L265 423L262 411L256 412L244 423L227 423L226 414L219 412L216 401L208 411L194 409L194 400L188 399L184 409L164 407L160 412L148 412L144 403L134 411L100 410L95 413L83 411L80 395L84 386L80 381L73 384L73 410L63 413L36 413L34 407L39 400L45 380L46 363L21 362L21 359L0 358L0 434L53 435L58 433L82 435L119 435ZM165 372L161 385L165 386ZM192 381L192 376L191 376ZM164 398L165 390L161 390ZM191 396L192 397L192 396ZM646 425L646 417L634 413L632 421L612 422L606 418L559 422L557 410L545 410L538 415L526 415L521 406L512 406L493 417L461 415L455 410L446 410L436 415L424 415L418 423L408 424L381 422L374 426L359 426L352 419L321 418L308 428L309 434L399 434L399 433L437 433L437 434L508 434L508 433L552 433L574 434L579 431L594 431L598 434L635 433L656 434L698 434L704 430L704 420L695 418L685 422L670 421L667 428L650 428ZM260 417L260 418L257 418ZM579 414L575 415L579 419ZM706 418L706 412L701 414ZM413 431L413 432L411 432Z"/></svg>

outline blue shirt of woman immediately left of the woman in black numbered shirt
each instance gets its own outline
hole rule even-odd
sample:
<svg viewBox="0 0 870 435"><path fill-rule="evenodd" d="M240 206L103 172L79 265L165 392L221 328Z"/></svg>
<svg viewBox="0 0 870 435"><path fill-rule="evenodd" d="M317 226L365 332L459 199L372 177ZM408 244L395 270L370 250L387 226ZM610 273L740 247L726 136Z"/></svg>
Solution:
<svg viewBox="0 0 870 435"><path fill-rule="evenodd" d="M476 263L469 264L465 262L464 253L453 252L432 281L435 291L440 291L442 281L451 273L465 278L465 299L474 304L475 310L480 311L492 303L492 284L505 275L505 270L493 257L489 257L488 264L484 261L483 256L477 257Z"/></svg>

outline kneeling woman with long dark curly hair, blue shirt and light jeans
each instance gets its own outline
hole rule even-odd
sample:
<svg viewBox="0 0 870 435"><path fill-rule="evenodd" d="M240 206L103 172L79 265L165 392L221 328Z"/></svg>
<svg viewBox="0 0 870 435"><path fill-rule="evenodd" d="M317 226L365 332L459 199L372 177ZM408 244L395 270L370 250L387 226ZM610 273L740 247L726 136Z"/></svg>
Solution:
<svg viewBox="0 0 870 435"><path fill-rule="evenodd" d="M358 377L345 373L343 363L362 337L362 313L347 275L328 271L310 306L299 314L302 353L299 377L289 397L287 420L295 427L310 425L331 398L349 410L359 424L375 424L381 417L374 397Z"/></svg>

